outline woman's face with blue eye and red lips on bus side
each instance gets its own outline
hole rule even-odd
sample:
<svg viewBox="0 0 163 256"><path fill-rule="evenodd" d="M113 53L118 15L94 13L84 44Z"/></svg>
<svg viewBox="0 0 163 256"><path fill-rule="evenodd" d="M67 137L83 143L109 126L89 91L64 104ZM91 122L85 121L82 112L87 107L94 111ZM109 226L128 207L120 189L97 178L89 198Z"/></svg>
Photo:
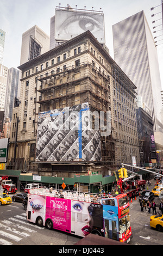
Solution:
<svg viewBox="0 0 163 256"><path fill-rule="evenodd" d="M71 231L76 235L86 236L91 233L90 222L92 220L90 203L72 201L71 203Z"/></svg>

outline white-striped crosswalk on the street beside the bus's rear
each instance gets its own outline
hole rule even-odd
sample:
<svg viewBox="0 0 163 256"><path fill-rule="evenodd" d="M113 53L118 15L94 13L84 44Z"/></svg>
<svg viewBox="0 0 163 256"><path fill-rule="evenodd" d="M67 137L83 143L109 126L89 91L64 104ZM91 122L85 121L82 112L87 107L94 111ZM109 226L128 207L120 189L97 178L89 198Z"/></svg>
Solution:
<svg viewBox="0 0 163 256"><path fill-rule="evenodd" d="M0 245L14 245L42 229L27 221L26 213L0 220Z"/></svg>

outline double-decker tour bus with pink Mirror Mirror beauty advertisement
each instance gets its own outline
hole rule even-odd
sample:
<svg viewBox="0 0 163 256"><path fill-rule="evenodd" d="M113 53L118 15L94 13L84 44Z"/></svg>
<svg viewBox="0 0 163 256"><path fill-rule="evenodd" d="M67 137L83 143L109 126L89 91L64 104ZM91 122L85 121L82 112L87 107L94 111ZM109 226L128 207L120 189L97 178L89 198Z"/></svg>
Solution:
<svg viewBox="0 0 163 256"><path fill-rule="evenodd" d="M28 194L27 220L82 237L92 233L121 242L132 237L127 194L98 198L35 188Z"/></svg>

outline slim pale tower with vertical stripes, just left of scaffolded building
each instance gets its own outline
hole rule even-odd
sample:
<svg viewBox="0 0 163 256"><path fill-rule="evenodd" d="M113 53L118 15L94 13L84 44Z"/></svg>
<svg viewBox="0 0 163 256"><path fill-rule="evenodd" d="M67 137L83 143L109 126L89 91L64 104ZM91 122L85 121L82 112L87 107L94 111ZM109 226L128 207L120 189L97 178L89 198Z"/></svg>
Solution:
<svg viewBox="0 0 163 256"><path fill-rule="evenodd" d="M12 119L12 109L15 97L17 97L19 70L10 68L8 70L7 89L5 94L5 118Z"/></svg>

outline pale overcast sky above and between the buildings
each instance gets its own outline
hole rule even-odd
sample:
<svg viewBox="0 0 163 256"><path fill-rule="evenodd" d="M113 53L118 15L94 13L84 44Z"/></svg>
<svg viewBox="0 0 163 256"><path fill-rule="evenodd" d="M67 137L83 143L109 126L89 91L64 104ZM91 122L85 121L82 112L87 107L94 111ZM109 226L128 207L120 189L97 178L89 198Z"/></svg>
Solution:
<svg viewBox="0 0 163 256"><path fill-rule="evenodd" d="M51 17L55 15L55 7L67 7L87 10L100 10L104 13L106 46L110 56L114 58L112 25L139 11L144 11L149 27L157 36L157 51L160 77L163 90L163 39L161 20L161 0L0 0L0 28L5 31L3 65L17 68L20 65L22 34L37 25L50 35ZM151 11L151 8L154 10ZM154 14L154 17L151 17ZM152 21L155 20L155 23ZM155 26L155 29L153 27ZM156 31L156 33L153 33Z"/></svg>

